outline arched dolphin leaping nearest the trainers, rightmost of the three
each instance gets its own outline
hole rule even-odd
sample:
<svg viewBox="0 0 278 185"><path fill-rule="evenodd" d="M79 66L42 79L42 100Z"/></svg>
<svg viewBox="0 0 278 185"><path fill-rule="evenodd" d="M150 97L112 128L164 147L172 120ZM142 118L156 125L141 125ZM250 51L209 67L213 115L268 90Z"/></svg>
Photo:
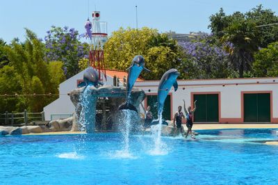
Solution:
<svg viewBox="0 0 278 185"><path fill-rule="evenodd" d="M172 86L174 86L174 91L178 89L177 77L179 77L179 72L176 69L167 70L161 77L161 81L158 85L158 115L162 113L165 99L171 90Z"/></svg>

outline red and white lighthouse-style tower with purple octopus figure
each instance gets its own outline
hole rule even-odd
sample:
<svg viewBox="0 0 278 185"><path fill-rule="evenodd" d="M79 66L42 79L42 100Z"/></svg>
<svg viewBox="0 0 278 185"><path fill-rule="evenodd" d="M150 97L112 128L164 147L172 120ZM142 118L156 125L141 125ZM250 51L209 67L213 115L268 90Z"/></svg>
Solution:
<svg viewBox="0 0 278 185"><path fill-rule="evenodd" d="M103 81L104 78L106 79L104 43L107 41L107 22L100 22L99 19L100 12L92 12L92 22L88 19L85 24L85 29L87 31L88 38L90 38L90 65L98 70L99 80ZM103 75L101 75L101 72Z"/></svg>

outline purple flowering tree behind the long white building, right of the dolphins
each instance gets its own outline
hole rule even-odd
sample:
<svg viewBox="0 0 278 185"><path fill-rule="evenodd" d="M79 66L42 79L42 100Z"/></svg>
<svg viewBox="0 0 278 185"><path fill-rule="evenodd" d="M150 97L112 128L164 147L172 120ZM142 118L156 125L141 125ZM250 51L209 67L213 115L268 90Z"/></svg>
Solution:
<svg viewBox="0 0 278 185"><path fill-rule="evenodd" d="M221 46L210 43L211 36L195 41L179 42L185 57L180 70L184 79L215 79L233 75L229 54Z"/></svg>

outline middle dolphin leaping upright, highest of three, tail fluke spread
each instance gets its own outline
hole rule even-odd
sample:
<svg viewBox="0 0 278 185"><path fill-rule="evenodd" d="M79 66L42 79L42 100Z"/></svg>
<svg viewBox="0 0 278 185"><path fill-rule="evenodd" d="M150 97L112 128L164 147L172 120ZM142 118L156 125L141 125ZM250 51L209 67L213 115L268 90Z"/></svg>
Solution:
<svg viewBox="0 0 278 185"><path fill-rule="evenodd" d="M124 104L121 104L118 110L130 109L132 111L137 112L135 106L131 104L131 90L133 88L134 83L136 82L136 79L138 79L140 73L142 72L142 70L145 70L147 72L150 72L150 70L148 70L145 67L145 58L140 55L136 55L133 58L131 66L126 70L129 71L129 74L127 76L127 83L126 83L126 102L124 102Z"/></svg>

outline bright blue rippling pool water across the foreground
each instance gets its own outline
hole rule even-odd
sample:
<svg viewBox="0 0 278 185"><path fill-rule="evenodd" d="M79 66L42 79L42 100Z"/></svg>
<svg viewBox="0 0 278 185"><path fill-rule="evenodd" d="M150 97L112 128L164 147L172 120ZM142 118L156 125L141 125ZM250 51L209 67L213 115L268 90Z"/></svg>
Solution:
<svg viewBox="0 0 278 185"><path fill-rule="evenodd" d="M278 184L273 129L199 131L196 140L121 134L0 137L0 184ZM263 141L262 141L263 140Z"/></svg>

